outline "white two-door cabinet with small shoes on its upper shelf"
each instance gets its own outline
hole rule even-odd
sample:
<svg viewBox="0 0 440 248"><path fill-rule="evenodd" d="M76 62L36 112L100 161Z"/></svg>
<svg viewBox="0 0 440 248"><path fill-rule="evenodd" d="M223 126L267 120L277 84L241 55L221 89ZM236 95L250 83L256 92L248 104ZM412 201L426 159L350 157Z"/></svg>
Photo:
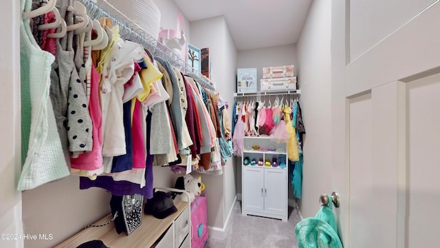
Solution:
<svg viewBox="0 0 440 248"><path fill-rule="evenodd" d="M286 144L272 142L267 137L246 137L244 144L242 214L287 221L287 166L280 167L283 163L287 165ZM256 145L260 149L256 149ZM276 158L276 164L272 163L272 158ZM263 163L269 160L271 165L259 165L260 160Z"/></svg>

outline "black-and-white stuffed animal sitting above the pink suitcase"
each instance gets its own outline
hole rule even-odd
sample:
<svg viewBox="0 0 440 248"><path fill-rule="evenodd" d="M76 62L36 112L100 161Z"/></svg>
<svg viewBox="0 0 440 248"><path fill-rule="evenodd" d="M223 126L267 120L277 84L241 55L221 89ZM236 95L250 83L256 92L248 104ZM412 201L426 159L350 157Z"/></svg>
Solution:
<svg viewBox="0 0 440 248"><path fill-rule="evenodd" d="M200 196L201 191L205 189L205 185L201 183L201 176L194 178L191 174L185 176L179 176L176 180L176 189L184 189L190 195L190 202L197 196ZM184 194L177 194L175 200L188 201Z"/></svg>

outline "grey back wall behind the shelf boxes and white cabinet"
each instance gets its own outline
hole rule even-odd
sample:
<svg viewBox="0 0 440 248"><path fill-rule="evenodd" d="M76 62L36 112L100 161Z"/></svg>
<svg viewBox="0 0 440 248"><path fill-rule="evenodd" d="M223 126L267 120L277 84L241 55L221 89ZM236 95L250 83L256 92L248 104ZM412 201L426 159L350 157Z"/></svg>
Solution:
<svg viewBox="0 0 440 248"><path fill-rule="evenodd" d="M237 68L256 68L258 81L262 78L262 70L264 67L278 65L298 65L295 44L279 45L270 48L241 50L238 53ZM234 79L234 81L236 81L236 78ZM258 83L257 85L257 90L260 90L260 83ZM236 85L234 85L234 89L236 90ZM236 180L236 187L237 192L241 194L241 158L236 159L236 165L236 174L239 175ZM293 198L291 186L289 186L288 195L289 198Z"/></svg>

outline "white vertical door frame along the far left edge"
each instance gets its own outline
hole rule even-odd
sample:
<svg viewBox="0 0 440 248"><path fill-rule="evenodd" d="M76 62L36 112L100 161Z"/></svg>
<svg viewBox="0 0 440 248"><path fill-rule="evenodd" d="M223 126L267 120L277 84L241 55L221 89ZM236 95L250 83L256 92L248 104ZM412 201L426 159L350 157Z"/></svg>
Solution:
<svg viewBox="0 0 440 248"><path fill-rule="evenodd" d="M3 1L0 33L0 234L23 234L21 193L16 185L21 171L19 2ZM23 239L0 240L0 247L23 247Z"/></svg>

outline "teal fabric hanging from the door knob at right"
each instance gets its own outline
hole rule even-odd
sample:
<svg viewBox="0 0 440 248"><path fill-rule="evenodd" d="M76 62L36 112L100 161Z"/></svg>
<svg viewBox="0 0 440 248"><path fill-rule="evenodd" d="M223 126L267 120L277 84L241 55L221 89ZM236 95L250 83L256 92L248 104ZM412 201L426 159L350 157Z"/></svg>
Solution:
<svg viewBox="0 0 440 248"><path fill-rule="evenodd" d="M331 196L329 196L331 199ZM299 248L342 248L333 210L322 206L315 217L301 220L295 227Z"/></svg>

